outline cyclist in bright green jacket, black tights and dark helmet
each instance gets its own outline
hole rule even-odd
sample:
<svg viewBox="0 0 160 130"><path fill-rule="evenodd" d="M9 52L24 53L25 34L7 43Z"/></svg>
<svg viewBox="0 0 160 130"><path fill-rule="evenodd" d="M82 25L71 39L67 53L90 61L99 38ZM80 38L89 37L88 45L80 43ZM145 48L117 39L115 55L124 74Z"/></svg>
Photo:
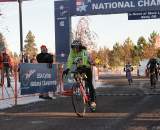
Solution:
<svg viewBox="0 0 160 130"><path fill-rule="evenodd" d="M74 40L71 44L71 51L67 60L67 69L63 71L63 75L67 75L74 65L76 59L80 59L77 64L77 70L80 69L82 73L87 76L86 85L89 87L89 93L91 98L91 107L96 108L96 93L92 84L92 70L91 61L87 53L86 47L84 47L79 40Z"/></svg>

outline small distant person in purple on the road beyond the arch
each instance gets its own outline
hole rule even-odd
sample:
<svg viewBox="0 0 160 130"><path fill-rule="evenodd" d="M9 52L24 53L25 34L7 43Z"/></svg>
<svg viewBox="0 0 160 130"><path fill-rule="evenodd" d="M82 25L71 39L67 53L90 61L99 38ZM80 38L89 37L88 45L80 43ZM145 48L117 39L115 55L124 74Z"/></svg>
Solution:
<svg viewBox="0 0 160 130"><path fill-rule="evenodd" d="M126 77L127 77L128 81L129 81L129 85L130 85L130 82L133 82L132 75L131 75L131 71L133 71L133 67L130 64L130 62L128 62L125 65L124 71L126 72Z"/></svg>

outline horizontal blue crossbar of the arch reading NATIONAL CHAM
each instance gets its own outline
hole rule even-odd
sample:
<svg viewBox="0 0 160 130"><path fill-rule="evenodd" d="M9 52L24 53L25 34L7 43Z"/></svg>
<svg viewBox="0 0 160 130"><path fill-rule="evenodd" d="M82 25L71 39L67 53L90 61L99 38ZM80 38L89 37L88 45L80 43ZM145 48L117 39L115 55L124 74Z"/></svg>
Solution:
<svg viewBox="0 0 160 130"><path fill-rule="evenodd" d="M71 0L71 15L98 15L160 9L160 0Z"/></svg>

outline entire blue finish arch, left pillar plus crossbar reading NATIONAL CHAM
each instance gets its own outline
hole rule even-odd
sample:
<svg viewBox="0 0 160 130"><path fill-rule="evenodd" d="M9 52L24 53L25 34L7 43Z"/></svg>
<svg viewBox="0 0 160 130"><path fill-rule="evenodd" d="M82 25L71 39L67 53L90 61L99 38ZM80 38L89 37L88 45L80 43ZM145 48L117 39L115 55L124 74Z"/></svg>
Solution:
<svg viewBox="0 0 160 130"><path fill-rule="evenodd" d="M65 63L70 51L71 16L158 11L160 0L60 0L54 5L56 61Z"/></svg>

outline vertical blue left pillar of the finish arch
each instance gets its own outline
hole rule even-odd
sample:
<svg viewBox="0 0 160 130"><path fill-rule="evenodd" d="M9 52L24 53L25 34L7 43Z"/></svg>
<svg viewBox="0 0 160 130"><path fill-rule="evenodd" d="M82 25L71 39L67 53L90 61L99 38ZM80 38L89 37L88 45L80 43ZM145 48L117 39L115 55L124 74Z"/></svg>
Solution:
<svg viewBox="0 0 160 130"><path fill-rule="evenodd" d="M70 3L55 1L56 61L66 62L70 51Z"/></svg>

